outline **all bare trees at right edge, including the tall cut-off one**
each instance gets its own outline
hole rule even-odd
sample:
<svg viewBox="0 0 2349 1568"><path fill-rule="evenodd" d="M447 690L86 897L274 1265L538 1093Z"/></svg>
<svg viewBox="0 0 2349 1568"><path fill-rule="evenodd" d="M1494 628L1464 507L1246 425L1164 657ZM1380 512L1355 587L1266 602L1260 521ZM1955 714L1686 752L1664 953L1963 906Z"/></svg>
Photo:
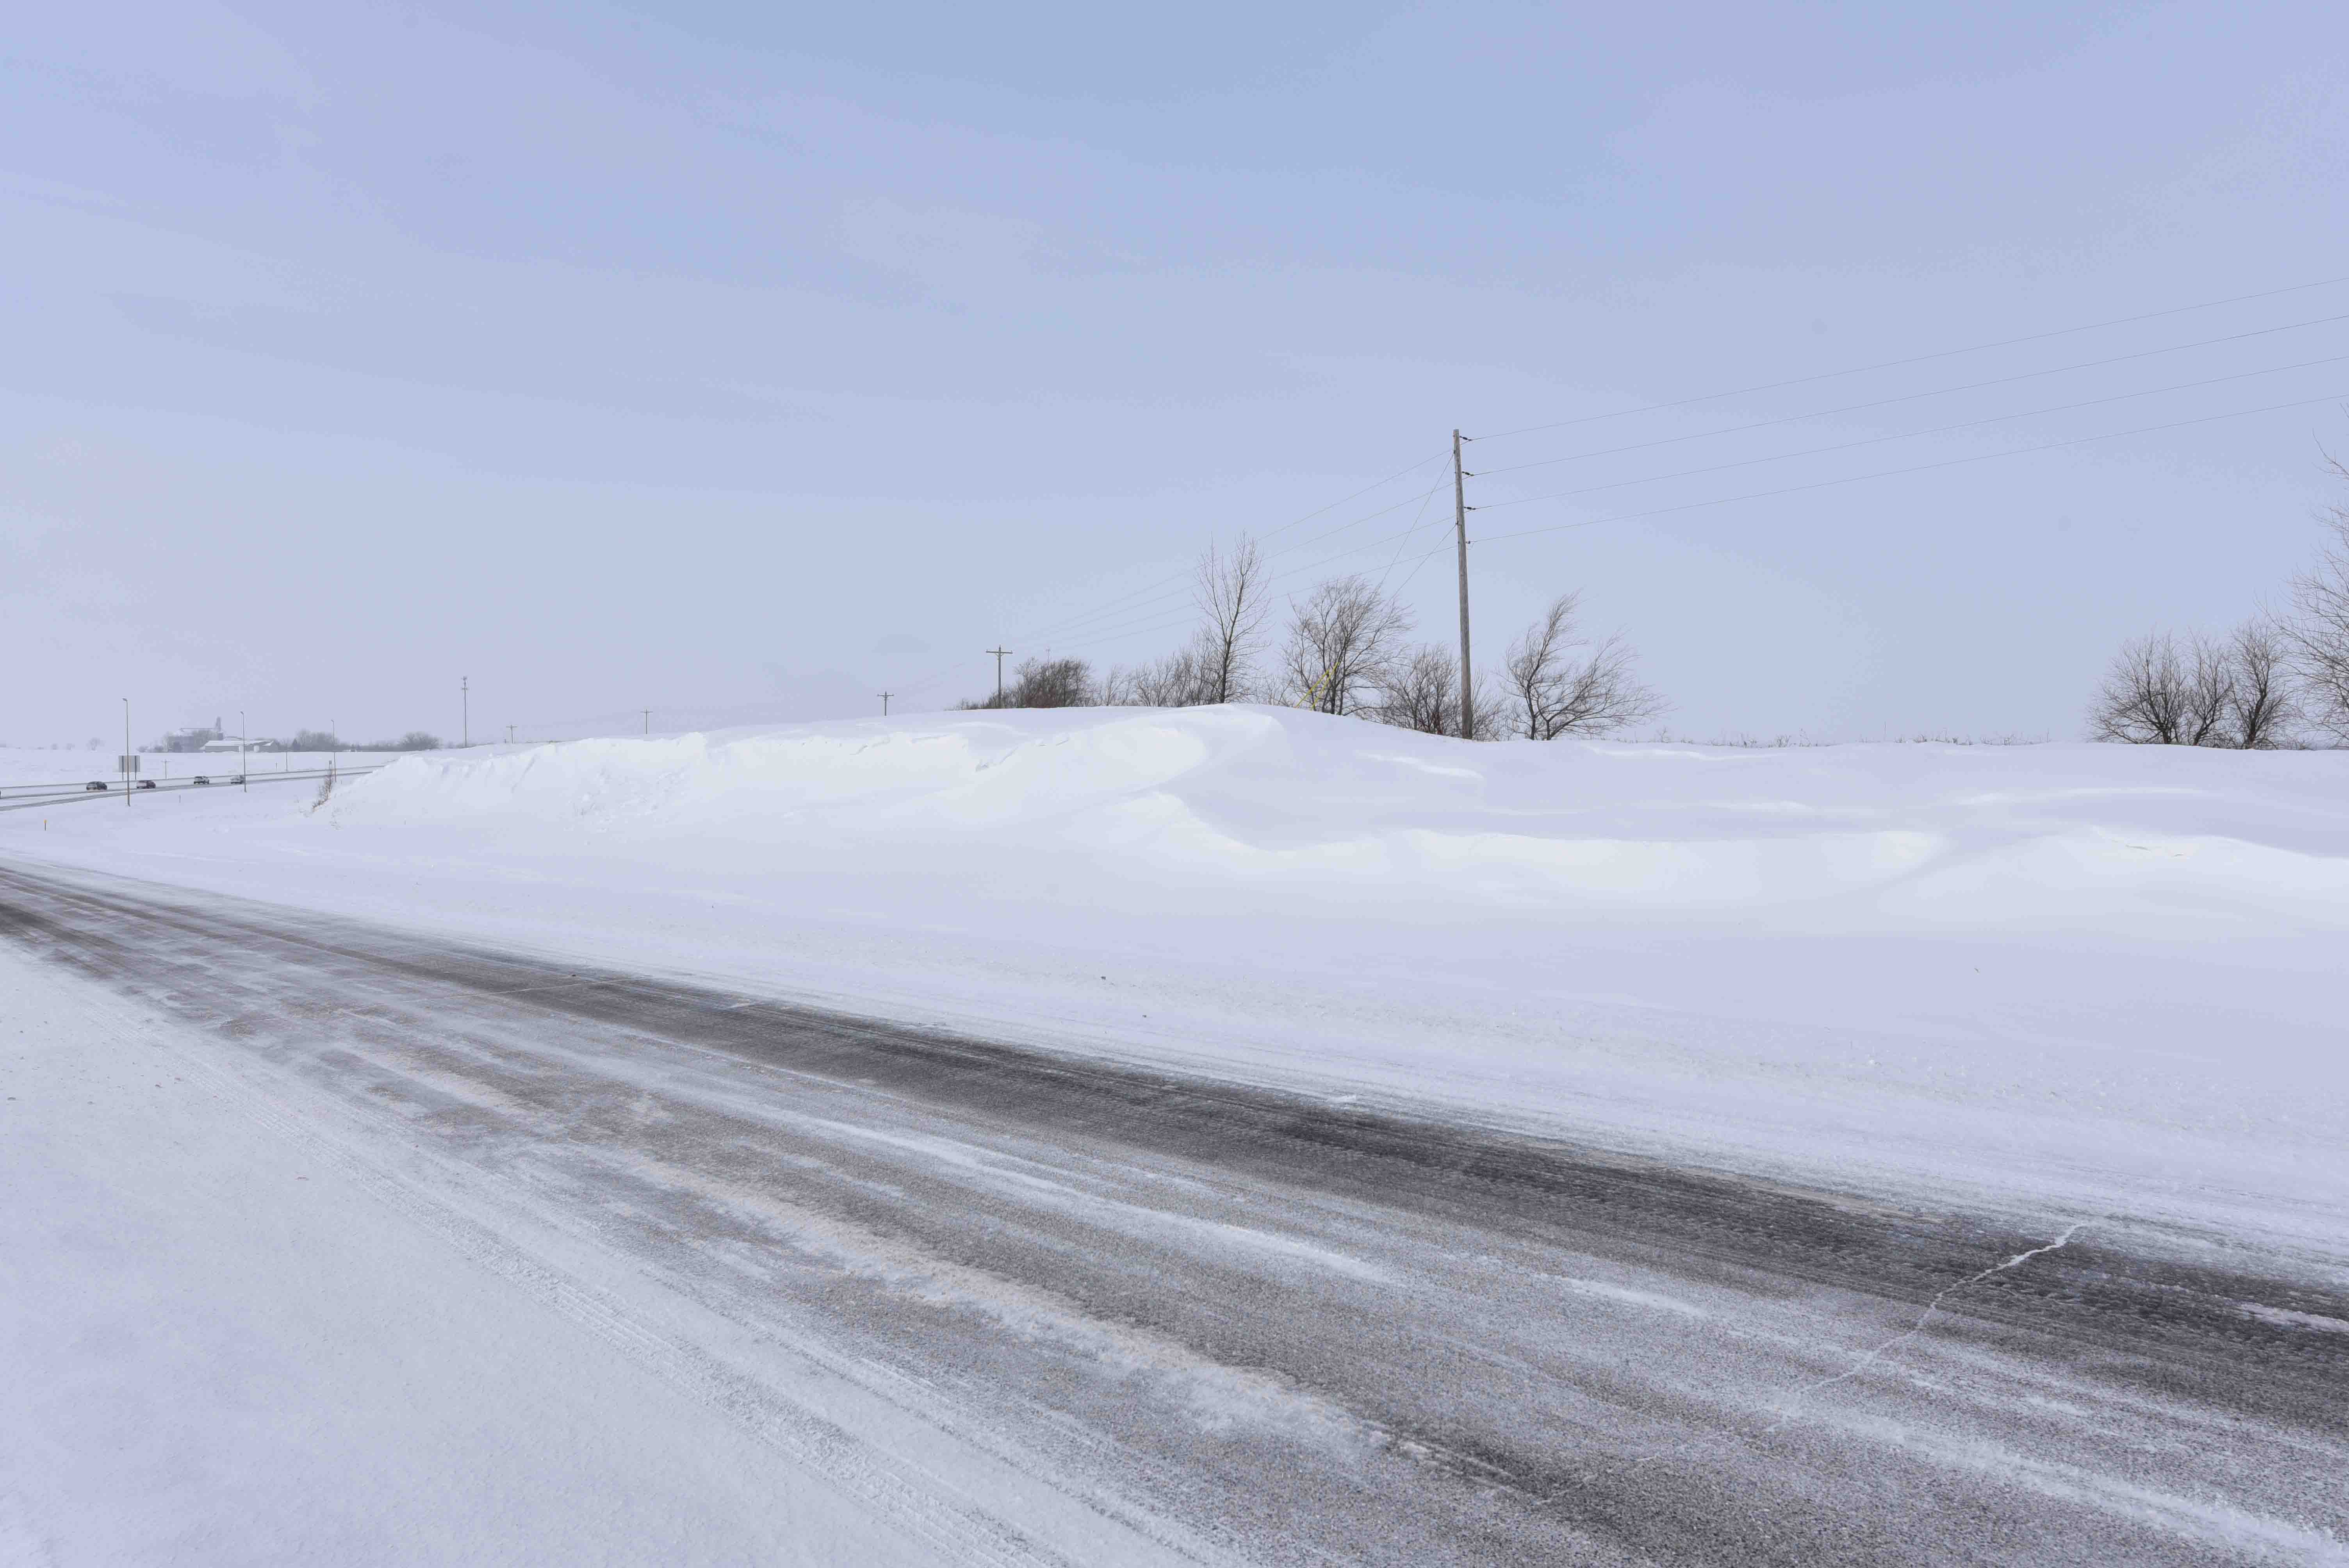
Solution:
<svg viewBox="0 0 2349 1568"><path fill-rule="evenodd" d="M2349 481L2349 467L2330 460ZM2349 744L2349 502L2326 516L2290 606L2225 636L2154 631L2121 646L2088 707L2093 739L2269 751Z"/></svg>

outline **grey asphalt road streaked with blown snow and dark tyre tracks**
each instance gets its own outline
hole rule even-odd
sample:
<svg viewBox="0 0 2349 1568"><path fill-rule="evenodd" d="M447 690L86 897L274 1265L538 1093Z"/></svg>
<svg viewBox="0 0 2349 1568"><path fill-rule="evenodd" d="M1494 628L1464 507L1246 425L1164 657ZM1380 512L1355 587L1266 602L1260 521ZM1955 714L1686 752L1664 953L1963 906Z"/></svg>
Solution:
<svg viewBox="0 0 2349 1568"><path fill-rule="evenodd" d="M2349 1561L2349 1256L87 873L0 866L0 941L907 1561Z"/></svg>

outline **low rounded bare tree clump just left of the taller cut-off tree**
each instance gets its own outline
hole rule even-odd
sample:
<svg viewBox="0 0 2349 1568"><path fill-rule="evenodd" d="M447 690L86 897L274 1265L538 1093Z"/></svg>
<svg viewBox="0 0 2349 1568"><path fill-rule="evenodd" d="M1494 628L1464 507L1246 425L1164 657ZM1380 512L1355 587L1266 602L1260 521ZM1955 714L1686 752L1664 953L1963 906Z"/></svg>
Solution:
<svg viewBox="0 0 2349 1568"><path fill-rule="evenodd" d="M2088 707L2088 737L2138 746L2288 744L2297 704L2283 631L2253 617L2225 638L2154 631L2121 646Z"/></svg>

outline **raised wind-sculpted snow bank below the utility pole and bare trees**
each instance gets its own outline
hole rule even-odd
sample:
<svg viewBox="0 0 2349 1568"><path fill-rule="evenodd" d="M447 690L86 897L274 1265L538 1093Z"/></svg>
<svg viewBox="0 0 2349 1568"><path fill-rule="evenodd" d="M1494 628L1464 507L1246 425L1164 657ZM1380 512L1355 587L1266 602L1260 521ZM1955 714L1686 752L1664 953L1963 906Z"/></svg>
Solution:
<svg viewBox="0 0 2349 1568"><path fill-rule="evenodd" d="M2349 930L2349 758L1461 746L1290 709L968 714L413 756L343 826L742 871L1001 861L1062 897L1757 930ZM1071 883L1069 878L1076 878Z"/></svg>

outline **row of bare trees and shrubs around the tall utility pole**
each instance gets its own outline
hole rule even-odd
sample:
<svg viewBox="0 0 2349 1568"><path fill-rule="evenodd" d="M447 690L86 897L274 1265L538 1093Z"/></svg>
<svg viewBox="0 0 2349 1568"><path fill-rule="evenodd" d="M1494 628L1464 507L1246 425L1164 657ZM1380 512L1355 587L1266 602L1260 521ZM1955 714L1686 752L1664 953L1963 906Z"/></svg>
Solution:
<svg viewBox="0 0 2349 1568"><path fill-rule="evenodd" d="M1461 732L1459 655L1445 643L1414 643L1412 613L1398 596L1362 575L1330 577L1290 599L1276 631L1280 606L1266 582L1252 540L1210 549L1193 580L1200 624L1174 653L1099 678L1085 660L1029 660L998 697L965 707L1280 702L1426 735ZM1501 671L1475 681L1475 739L1607 735L1665 711L1637 678L1621 634L1593 643L1576 608L1574 594L1557 596L1508 646Z"/></svg>

